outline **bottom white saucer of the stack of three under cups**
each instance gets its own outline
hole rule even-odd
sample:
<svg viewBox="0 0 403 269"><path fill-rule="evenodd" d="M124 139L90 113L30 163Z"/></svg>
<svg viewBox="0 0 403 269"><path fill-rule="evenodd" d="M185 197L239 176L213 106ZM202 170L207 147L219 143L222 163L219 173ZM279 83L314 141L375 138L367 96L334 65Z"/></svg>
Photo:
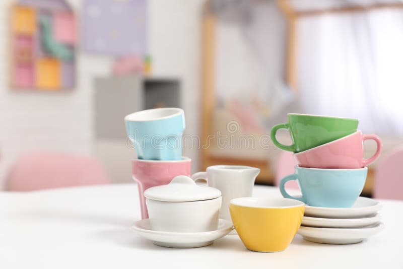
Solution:
<svg viewBox="0 0 403 269"><path fill-rule="evenodd" d="M363 228L316 228L301 226L298 234L305 240L323 244L355 244L364 238L379 233L384 228L383 223L377 223Z"/></svg>

